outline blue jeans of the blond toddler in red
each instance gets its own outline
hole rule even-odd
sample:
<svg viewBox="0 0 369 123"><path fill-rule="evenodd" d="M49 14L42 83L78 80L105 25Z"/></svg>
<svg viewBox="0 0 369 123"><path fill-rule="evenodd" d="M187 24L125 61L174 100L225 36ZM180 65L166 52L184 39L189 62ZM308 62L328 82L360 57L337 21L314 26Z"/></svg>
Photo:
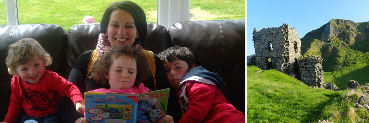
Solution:
<svg viewBox="0 0 369 123"><path fill-rule="evenodd" d="M22 123L62 123L57 113L43 117L23 116Z"/></svg>

